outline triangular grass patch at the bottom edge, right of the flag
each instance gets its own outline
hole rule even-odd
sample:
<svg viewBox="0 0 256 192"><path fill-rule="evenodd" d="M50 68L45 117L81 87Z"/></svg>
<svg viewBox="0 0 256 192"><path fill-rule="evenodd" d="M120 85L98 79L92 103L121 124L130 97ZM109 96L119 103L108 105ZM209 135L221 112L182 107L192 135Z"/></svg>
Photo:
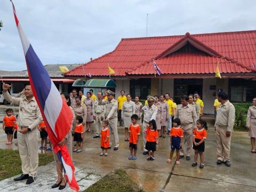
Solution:
<svg viewBox="0 0 256 192"><path fill-rule="evenodd" d="M103 177L84 192L143 192L124 170L116 170Z"/></svg>

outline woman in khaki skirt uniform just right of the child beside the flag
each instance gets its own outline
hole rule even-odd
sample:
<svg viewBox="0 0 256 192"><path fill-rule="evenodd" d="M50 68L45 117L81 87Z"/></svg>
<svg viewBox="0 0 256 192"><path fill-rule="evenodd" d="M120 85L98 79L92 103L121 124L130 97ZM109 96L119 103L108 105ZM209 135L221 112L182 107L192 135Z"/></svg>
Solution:
<svg viewBox="0 0 256 192"><path fill-rule="evenodd" d="M94 100L91 98L90 92L86 93L86 99L84 100L84 104L87 109L87 116L86 116L86 130L85 132L91 132L92 123L93 123L93 116L94 116Z"/></svg>

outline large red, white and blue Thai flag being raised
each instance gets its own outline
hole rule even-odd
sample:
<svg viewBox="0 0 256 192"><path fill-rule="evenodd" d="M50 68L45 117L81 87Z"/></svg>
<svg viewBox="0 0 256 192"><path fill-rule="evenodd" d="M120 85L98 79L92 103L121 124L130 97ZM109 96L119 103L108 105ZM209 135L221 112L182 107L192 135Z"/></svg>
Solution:
<svg viewBox="0 0 256 192"><path fill-rule="evenodd" d="M60 162L63 164L65 178L67 179L70 188L79 191L74 175L75 167L69 156L68 149L66 145L57 145L57 143L59 143L71 129L73 113L66 101L61 98L57 87L52 82L42 62L37 57L33 47L28 41L28 38L25 36L17 18L13 3L12 7L26 58L29 82L34 97L41 110L49 138L53 143L54 153L58 155Z"/></svg>

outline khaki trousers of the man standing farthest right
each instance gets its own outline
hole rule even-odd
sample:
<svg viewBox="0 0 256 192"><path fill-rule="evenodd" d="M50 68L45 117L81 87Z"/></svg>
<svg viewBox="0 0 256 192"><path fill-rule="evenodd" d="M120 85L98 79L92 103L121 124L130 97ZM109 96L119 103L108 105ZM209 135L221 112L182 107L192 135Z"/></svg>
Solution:
<svg viewBox="0 0 256 192"><path fill-rule="evenodd" d="M216 125L215 136L216 136L216 148L217 157L220 161L226 162L230 160L230 137L226 136L227 127Z"/></svg>

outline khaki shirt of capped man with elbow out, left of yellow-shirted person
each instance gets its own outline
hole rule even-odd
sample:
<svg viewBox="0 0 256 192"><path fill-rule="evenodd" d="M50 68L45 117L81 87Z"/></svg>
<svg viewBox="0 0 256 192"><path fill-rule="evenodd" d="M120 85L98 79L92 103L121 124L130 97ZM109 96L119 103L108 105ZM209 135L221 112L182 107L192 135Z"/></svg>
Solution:
<svg viewBox="0 0 256 192"><path fill-rule="evenodd" d="M107 118L117 118L117 101L115 99L99 100L98 105L106 105L106 116Z"/></svg>

